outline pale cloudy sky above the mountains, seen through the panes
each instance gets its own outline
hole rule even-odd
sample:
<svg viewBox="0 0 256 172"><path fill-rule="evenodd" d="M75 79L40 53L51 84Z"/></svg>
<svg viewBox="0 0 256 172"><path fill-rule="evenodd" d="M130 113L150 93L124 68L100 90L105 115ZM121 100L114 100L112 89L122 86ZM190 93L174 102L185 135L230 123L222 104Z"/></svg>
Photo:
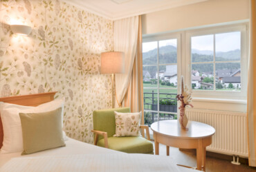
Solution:
<svg viewBox="0 0 256 172"><path fill-rule="evenodd" d="M191 38L192 49L213 51L214 35L193 36ZM216 52L229 52L237 50L241 47L241 33L229 32L223 34L215 34ZM177 47L176 39L159 41L159 46L174 45ZM154 50L157 47L157 41L143 43L143 52Z"/></svg>

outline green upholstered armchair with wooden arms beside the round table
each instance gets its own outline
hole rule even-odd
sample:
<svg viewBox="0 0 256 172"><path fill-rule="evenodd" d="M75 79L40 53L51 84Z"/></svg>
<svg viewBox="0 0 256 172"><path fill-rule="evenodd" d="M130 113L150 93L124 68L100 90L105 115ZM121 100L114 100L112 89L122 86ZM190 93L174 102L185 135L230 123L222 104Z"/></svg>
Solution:
<svg viewBox="0 0 256 172"><path fill-rule="evenodd" d="M126 153L154 154L153 144L150 142L148 126L140 125L140 129L143 129L143 136L145 136L145 129L147 139L141 136L113 137L116 133L116 118L114 111L127 113L130 112L130 109L129 107L122 107L93 111L92 132L95 133L94 144Z"/></svg>

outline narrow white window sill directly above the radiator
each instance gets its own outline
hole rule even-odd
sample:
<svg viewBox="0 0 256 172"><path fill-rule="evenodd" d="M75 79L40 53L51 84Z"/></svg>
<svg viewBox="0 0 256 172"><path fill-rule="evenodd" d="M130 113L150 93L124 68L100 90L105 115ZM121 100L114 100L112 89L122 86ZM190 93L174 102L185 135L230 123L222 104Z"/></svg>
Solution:
<svg viewBox="0 0 256 172"><path fill-rule="evenodd" d="M247 100L237 100L237 99L223 99L223 98L192 98L192 102L208 102L208 103L232 103L232 104L247 104Z"/></svg>

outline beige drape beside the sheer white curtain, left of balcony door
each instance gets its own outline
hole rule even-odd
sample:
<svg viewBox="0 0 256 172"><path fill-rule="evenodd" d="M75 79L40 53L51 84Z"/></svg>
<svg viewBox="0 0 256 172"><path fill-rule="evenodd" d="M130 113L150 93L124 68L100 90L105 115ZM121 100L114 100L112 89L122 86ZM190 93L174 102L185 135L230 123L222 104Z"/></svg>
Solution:
<svg viewBox="0 0 256 172"><path fill-rule="evenodd" d="M142 54L142 29L141 16L138 20L138 41L131 80L124 99L125 107L130 107L132 112L143 111L143 54ZM143 113L144 114L144 113ZM144 115L141 118L144 124Z"/></svg>

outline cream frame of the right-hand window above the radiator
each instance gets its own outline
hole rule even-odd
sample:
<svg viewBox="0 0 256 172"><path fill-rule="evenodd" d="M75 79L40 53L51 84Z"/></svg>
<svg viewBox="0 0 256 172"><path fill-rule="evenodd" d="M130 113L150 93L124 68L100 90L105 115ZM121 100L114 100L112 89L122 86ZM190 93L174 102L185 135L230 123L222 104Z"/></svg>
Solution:
<svg viewBox="0 0 256 172"><path fill-rule="evenodd" d="M226 90L198 90L192 89L191 82L191 37L192 36L203 36L208 34L221 34L228 32L241 32L241 91L226 91ZM197 30L188 30L185 32L185 83L190 89L192 89L193 98L221 98L221 99L244 99L246 100L247 94L247 61L248 61L248 24L243 23L239 25L223 25L219 27L202 28ZM215 50L215 45L214 45ZM215 55L215 51L214 51ZM215 58L214 58L215 59ZM225 61L221 62L224 63ZM219 63L219 62L217 62ZM215 61L212 64L215 66ZM215 72L215 67L214 71ZM214 81L215 83L215 81ZM214 88L216 85L214 85Z"/></svg>

